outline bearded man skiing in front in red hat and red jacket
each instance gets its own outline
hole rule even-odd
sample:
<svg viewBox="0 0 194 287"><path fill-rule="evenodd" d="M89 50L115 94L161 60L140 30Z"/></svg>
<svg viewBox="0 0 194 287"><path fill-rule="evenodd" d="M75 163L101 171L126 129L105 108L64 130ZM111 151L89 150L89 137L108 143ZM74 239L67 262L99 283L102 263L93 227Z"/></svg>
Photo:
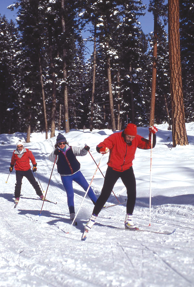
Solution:
<svg viewBox="0 0 194 287"><path fill-rule="evenodd" d="M137 126L129 123L125 130L120 133L113 133L103 142L99 143L96 150L105 154L108 151L109 160L106 171L104 185L101 194L95 203L92 216L85 226L85 233L92 228L96 217L101 211L105 202L108 200L116 181L121 178L127 191L125 227L129 229L138 229L132 222L133 209L136 201L136 181L133 173L132 161L135 157L137 147L140 149L151 148L151 133L153 133L153 147L156 144L156 127L149 128L149 140L137 134Z"/></svg>

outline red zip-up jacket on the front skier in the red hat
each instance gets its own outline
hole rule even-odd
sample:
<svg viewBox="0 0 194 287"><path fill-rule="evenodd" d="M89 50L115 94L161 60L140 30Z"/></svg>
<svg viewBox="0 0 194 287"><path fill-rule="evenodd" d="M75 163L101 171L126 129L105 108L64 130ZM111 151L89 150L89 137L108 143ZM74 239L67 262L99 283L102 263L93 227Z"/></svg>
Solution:
<svg viewBox="0 0 194 287"><path fill-rule="evenodd" d="M153 147L155 146L155 142L156 136L153 135ZM113 133L103 142L99 143L97 147L98 149L100 147L109 148L110 154L107 162L109 167L116 171L125 171L132 166L137 147L144 150L151 148L151 134L149 134L149 140L140 135L136 135L132 142L127 144L124 141L123 132Z"/></svg>

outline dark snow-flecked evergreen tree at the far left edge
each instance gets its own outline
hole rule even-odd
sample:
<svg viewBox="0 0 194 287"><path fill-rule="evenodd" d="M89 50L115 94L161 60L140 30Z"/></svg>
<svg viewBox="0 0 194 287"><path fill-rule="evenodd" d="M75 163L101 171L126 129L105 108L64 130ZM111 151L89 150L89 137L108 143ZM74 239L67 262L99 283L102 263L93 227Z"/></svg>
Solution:
<svg viewBox="0 0 194 287"><path fill-rule="evenodd" d="M17 90L20 53L14 22L0 16L0 133L18 131Z"/></svg>

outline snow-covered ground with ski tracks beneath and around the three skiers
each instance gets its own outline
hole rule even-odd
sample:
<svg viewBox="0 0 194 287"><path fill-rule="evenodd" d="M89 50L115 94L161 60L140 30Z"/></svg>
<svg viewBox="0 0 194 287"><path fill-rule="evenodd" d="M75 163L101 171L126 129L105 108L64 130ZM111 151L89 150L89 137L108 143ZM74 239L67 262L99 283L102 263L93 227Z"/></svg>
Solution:
<svg viewBox="0 0 194 287"><path fill-rule="evenodd" d="M183 287L194 286L194 123L186 124L189 145L172 147L171 131L158 126L157 144L152 160L152 205L149 225L150 150L137 149L133 169L137 180L137 202L134 222L140 229L175 232L171 235L126 231L125 205L102 210L97 223L81 241L83 226L90 217L93 204L88 197L72 226L66 192L54 167L47 199L39 216L42 201L23 178L22 196L14 209L15 171L9 175L9 165L16 142L21 139L32 150L37 162L37 175L44 191L47 189L53 163L48 155L56 137L45 140L45 134L0 135L0 286L2 287ZM58 135L56 130L56 135ZM62 133L72 146L91 147L98 163L101 154L96 145L112 133L111 130L71 130ZM138 128L138 134L148 137L148 128ZM81 171L90 182L96 165L88 153L78 157ZM100 164L106 172L108 154ZM36 175L35 175L36 177ZM103 177L97 171L92 182L97 197ZM118 180L114 193L120 202L126 190ZM75 209L78 210L85 192L74 184ZM117 203L110 196L106 205ZM119 228L116 228L119 227Z"/></svg>

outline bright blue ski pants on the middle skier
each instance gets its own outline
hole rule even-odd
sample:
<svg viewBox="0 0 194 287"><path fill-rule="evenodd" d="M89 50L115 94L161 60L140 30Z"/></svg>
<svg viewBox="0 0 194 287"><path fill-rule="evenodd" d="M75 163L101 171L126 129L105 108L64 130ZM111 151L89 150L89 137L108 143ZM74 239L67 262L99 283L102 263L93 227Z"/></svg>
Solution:
<svg viewBox="0 0 194 287"><path fill-rule="evenodd" d="M77 182L78 185L80 185L85 191L87 191L89 184L86 181L85 177L82 175L81 171L78 171L73 175L61 176L61 180L65 191L67 192L69 213L75 213L73 181ZM97 198L91 187L88 190L88 196L95 204Z"/></svg>

